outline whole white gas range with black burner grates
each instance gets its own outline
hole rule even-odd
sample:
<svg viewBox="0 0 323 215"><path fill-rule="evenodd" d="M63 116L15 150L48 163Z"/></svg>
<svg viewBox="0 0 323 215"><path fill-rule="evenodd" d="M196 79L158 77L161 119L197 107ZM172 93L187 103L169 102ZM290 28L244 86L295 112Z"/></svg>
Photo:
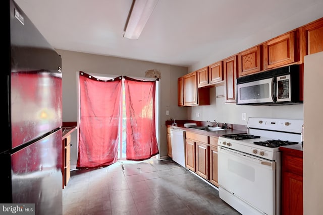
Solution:
<svg viewBox="0 0 323 215"><path fill-rule="evenodd" d="M303 120L249 118L218 141L220 198L242 214L280 214L280 146L301 144Z"/></svg>

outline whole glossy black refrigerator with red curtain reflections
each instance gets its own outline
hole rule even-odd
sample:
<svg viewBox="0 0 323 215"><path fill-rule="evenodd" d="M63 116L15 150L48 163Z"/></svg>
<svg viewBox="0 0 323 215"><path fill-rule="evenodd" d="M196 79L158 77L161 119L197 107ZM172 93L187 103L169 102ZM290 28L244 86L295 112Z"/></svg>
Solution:
<svg viewBox="0 0 323 215"><path fill-rule="evenodd" d="M62 214L62 58L14 1L3 5L0 203Z"/></svg>

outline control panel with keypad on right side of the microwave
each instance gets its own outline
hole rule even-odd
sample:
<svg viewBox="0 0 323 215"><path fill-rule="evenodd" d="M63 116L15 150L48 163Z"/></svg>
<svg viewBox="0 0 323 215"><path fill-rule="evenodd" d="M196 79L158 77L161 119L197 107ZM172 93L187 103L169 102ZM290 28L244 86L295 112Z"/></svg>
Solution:
<svg viewBox="0 0 323 215"><path fill-rule="evenodd" d="M291 101L291 75L277 77L277 101Z"/></svg>

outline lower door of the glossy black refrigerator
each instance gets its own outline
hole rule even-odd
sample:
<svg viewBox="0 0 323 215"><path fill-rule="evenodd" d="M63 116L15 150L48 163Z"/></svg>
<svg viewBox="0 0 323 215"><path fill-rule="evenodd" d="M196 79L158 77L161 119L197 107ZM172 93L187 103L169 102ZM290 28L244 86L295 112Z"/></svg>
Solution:
<svg viewBox="0 0 323 215"><path fill-rule="evenodd" d="M0 202L35 203L36 214L62 214L62 129L0 157L7 167Z"/></svg>

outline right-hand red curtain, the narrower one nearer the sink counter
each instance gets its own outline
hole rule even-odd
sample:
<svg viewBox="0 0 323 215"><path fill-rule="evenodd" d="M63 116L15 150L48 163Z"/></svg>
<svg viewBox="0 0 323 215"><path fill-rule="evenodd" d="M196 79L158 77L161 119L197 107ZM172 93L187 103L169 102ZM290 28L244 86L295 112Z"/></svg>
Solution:
<svg viewBox="0 0 323 215"><path fill-rule="evenodd" d="M124 78L127 116L126 159L149 159L159 153L155 131L156 81Z"/></svg>

